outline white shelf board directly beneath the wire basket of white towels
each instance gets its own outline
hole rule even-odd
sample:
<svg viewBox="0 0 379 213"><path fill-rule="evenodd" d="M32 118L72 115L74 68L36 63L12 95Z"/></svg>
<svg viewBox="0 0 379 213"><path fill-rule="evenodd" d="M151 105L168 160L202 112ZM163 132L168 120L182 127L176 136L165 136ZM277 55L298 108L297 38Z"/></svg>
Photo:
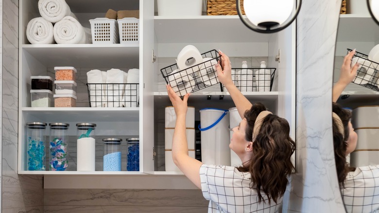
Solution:
<svg viewBox="0 0 379 213"><path fill-rule="evenodd" d="M45 122L138 122L139 107L22 107L23 115ZM80 116L80 117L79 117Z"/></svg>

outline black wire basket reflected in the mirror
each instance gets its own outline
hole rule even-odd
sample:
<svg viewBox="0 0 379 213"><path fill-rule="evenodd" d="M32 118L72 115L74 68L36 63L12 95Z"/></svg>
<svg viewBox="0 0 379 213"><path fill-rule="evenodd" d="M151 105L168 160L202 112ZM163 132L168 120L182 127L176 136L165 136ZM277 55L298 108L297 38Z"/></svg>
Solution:
<svg viewBox="0 0 379 213"><path fill-rule="evenodd" d="M347 49L347 53L350 53L351 51L351 49ZM355 52L353 58L351 59L351 65L355 65L356 62L360 62L360 66L358 67L357 75L352 82L362 87L379 91L379 72L377 70L379 69L378 63L369 60L368 55L358 51Z"/></svg>

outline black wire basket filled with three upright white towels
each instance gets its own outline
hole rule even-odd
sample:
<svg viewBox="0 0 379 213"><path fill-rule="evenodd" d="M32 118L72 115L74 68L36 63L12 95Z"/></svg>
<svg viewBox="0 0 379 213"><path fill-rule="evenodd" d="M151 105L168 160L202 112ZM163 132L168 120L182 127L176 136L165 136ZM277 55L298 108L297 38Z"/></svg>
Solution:
<svg viewBox="0 0 379 213"><path fill-rule="evenodd" d="M139 70L119 69L87 72L91 107L137 107Z"/></svg>

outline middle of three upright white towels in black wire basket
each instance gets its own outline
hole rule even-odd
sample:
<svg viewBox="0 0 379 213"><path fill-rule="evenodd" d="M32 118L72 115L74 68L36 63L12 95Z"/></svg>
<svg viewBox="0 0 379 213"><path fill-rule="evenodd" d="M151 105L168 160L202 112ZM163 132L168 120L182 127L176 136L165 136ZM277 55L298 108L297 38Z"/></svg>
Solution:
<svg viewBox="0 0 379 213"><path fill-rule="evenodd" d="M119 69L110 69L106 71L106 96L107 107L120 107L120 99L124 90L124 71ZM120 84L120 85L119 85Z"/></svg>

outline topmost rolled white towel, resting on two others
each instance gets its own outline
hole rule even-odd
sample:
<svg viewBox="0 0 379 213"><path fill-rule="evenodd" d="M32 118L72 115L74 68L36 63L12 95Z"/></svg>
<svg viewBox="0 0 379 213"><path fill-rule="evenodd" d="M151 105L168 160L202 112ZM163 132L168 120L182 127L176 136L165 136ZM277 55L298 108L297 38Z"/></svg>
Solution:
<svg viewBox="0 0 379 213"><path fill-rule="evenodd" d="M43 18L52 23L56 23L66 16L77 19L65 0L38 0L38 10Z"/></svg>

